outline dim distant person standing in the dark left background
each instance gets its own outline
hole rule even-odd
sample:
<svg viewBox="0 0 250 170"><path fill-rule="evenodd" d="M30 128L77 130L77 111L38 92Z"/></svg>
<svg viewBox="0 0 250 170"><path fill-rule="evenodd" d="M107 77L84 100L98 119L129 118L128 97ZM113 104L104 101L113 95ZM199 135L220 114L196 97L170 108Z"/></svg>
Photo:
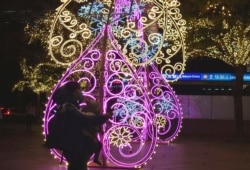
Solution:
<svg viewBox="0 0 250 170"><path fill-rule="evenodd" d="M32 131L32 125L34 124L36 116L36 108L32 102L26 106L26 130L27 132Z"/></svg>

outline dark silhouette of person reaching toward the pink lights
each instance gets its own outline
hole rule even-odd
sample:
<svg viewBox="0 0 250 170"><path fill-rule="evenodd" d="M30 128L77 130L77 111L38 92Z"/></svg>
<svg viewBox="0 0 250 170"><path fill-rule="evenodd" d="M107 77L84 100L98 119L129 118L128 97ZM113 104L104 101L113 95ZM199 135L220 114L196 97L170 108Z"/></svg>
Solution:
<svg viewBox="0 0 250 170"><path fill-rule="evenodd" d="M74 81L58 88L52 99L59 105L59 112L64 117L62 150L68 162L68 170L87 170L87 163L97 145L94 139L84 132L104 124L112 115L84 114L80 110L83 99L80 85Z"/></svg>

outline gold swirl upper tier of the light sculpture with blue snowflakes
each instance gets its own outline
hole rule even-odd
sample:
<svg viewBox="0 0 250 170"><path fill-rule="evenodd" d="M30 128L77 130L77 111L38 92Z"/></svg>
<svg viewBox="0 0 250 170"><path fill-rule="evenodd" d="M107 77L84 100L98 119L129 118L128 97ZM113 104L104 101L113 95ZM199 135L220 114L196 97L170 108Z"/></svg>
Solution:
<svg viewBox="0 0 250 170"><path fill-rule="evenodd" d="M49 36L50 55L54 61L69 65L108 24L130 64L155 63L168 81L177 80L185 68L186 35L179 6L177 0L68 0L57 9Z"/></svg>

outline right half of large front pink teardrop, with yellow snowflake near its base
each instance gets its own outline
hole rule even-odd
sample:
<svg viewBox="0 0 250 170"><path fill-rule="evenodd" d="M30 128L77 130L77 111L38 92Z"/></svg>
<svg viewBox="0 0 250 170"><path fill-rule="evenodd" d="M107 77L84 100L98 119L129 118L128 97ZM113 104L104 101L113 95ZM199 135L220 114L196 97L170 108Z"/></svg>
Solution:
<svg viewBox="0 0 250 170"><path fill-rule="evenodd" d="M109 39L113 43L110 30ZM115 44L113 48L116 48ZM138 167L151 157L156 146L157 127L153 122L150 99L137 74L119 51L109 50L105 61L107 87L115 78L121 88L115 92L110 88L105 91L107 103L114 99L116 102L111 104L115 117L104 135L104 151L108 159L119 166ZM145 137L145 132L151 140Z"/></svg>

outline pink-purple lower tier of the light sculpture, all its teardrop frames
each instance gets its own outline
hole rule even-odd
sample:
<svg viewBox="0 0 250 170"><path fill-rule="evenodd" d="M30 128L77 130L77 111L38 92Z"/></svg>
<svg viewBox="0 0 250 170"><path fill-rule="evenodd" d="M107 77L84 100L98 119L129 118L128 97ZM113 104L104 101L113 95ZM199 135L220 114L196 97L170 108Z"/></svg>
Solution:
<svg viewBox="0 0 250 170"><path fill-rule="evenodd" d="M108 37L110 43L112 44L112 49L107 50L105 54L104 79L106 83L103 86L103 111L106 113L107 107L110 107L114 113L114 117L104 127L105 134L103 138L103 151L107 159L118 166L140 167L148 161L149 158L151 158L157 141L170 140L178 134L181 125L180 107L172 89L169 86L166 86L166 83L164 84L165 81L162 80L162 76L157 72L157 70L154 70L155 68L153 66L151 66L153 69L151 70L149 77L151 82L155 83L155 87L151 89L151 95L148 95L148 91L143 84L143 81L145 80L141 81L141 78L143 77L140 75L143 73L142 68L138 70L139 73L134 71L134 68L126 62L122 54L116 49L116 46L113 43L115 41L113 41L112 32L110 31L111 29L109 27L107 27L107 29L109 30ZM78 58L78 60L76 60L76 62L68 68L61 80L55 86L53 92L55 89L70 80L72 76L76 77L76 74L81 74L77 79L79 83L82 81L91 82L91 88L82 91L83 96L86 98L90 97L92 99L98 98L98 95L95 93L95 90L98 89L98 79L96 79L96 75L94 75L92 71L102 56L96 47L99 42L102 42L103 37L103 32L101 32L89 48ZM126 81L125 83L123 83L123 79L121 79L124 74L126 77L130 77L129 81ZM114 79L114 77L116 77L116 79ZM113 93L112 86L110 86L110 84L117 80L122 83L122 88L120 88L118 93ZM165 92L160 92L159 94L158 91L158 94L156 95L154 91L155 88L159 86L167 89L167 94L164 94ZM157 104L157 101L159 102L167 99L166 96L171 98L171 109L165 111L160 109L161 111L156 113L155 109L153 109L154 105ZM169 101L169 103L171 102ZM130 106L126 105L126 103L132 105L132 109ZM52 118L55 108L56 104L50 97L48 104L46 105L44 117L45 136L49 134L48 122ZM123 113L123 115L120 115L120 113ZM167 128L162 128L164 129L164 132L160 131L161 128L158 128L155 124L156 114L164 115L165 119L168 121L166 126ZM178 120L178 123L177 126L174 127L176 129L172 129L170 132L169 130L171 129L172 120ZM123 129L121 130L121 128ZM124 143L119 143L118 141L120 139L115 139L114 136L124 130L127 130L127 132L130 133L131 139L127 141L124 139ZM163 135L163 133L168 134L167 138ZM158 139L158 135L162 136L162 138ZM114 140L111 141L111 138ZM55 149L52 149L51 151L58 159L61 158L60 151ZM65 161L64 158L63 160Z"/></svg>

